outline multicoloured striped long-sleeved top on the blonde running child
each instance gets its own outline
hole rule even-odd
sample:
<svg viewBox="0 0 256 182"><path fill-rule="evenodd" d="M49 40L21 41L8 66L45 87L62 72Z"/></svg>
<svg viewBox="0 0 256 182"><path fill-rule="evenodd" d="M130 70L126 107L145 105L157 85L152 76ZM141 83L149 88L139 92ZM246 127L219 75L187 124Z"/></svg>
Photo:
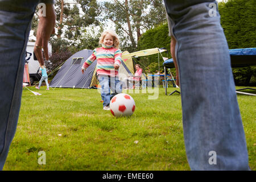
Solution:
<svg viewBox="0 0 256 182"><path fill-rule="evenodd" d="M120 49L102 45L101 48L93 50L92 55L82 65L82 69L88 68L97 59L97 75L117 76L118 70L114 69L114 64L121 64L121 56L122 52Z"/></svg>

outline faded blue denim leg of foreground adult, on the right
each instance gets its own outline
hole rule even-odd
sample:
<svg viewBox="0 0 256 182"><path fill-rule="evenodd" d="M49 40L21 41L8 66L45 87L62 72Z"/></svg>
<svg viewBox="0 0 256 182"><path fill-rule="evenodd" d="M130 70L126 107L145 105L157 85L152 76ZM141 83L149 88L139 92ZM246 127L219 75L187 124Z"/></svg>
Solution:
<svg viewBox="0 0 256 182"><path fill-rule="evenodd" d="M177 40L185 150L192 170L247 170L245 133L216 1L164 0ZM217 4L217 3L216 3Z"/></svg>

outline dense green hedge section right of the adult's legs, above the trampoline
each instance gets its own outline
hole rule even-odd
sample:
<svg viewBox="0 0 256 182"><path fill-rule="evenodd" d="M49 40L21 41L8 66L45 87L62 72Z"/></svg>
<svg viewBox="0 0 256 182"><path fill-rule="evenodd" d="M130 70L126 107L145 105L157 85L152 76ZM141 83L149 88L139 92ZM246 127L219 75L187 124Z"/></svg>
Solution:
<svg viewBox="0 0 256 182"><path fill-rule="evenodd" d="M255 0L229 0L219 3L221 26L230 49L256 46L255 5Z"/></svg>

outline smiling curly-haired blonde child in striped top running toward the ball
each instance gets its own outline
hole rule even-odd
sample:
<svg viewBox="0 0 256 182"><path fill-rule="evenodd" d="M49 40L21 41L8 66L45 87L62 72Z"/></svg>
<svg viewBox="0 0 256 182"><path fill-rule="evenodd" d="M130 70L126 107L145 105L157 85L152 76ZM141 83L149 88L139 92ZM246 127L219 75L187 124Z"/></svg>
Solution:
<svg viewBox="0 0 256 182"><path fill-rule="evenodd" d="M112 97L122 93L122 84L118 78L118 68L121 64L122 52L119 47L119 39L113 31L102 32L99 43L100 48L93 50L93 53L82 65L82 74L94 60L97 59L97 77L101 85L101 98L103 109L110 110L109 104ZM112 93L110 93L112 90Z"/></svg>

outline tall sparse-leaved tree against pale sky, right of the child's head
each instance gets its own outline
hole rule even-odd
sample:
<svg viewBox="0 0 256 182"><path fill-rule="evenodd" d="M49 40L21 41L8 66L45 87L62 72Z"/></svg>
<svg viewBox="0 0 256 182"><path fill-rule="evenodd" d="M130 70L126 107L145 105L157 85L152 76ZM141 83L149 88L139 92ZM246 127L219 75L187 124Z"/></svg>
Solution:
<svg viewBox="0 0 256 182"><path fill-rule="evenodd" d="M121 46L129 51L137 49L142 31L166 21L165 10L160 0L114 0L101 5L103 19L115 24Z"/></svg>

